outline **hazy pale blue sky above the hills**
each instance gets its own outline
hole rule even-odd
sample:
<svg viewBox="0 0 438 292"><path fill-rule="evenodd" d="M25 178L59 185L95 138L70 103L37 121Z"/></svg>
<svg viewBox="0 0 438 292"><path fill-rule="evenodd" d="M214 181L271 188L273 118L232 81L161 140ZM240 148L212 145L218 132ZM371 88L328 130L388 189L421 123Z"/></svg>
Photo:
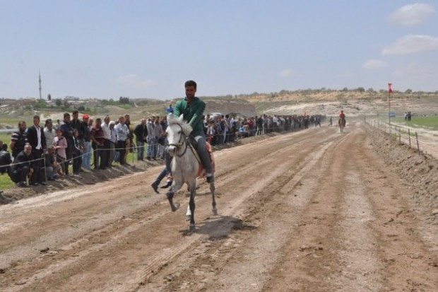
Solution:
<svg viewBox="0 0 438 292"><path fill-rule="evenodd" d="M0 0L0 98L438 90L437 1Z"/></svg>

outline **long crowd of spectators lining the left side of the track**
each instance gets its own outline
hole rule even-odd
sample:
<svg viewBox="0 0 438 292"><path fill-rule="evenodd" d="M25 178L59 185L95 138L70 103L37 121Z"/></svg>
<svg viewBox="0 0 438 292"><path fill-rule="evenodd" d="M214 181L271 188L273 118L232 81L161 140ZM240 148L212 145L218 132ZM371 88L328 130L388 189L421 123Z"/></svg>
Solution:
<svg viewBox="0 0 438 292"><path fill-rule="evenodd" d="M172 105L166 114L172 113ZM322 116L206 115L204 131L212 145L227 144L249 136L271 132L307 129L309 124L321 127ZM59 177L72 177L82 172L106 170L114 163L129 165L126 156L136 152L138 161L165 158L166 116L143 118L134 127L129 115L112 120L109 116L90 118L74 110L64 113L62 121L33 117L32 126L18 122L18 131L11 134L8 145L0 141L0 174L7 173L18 187L46 185ZM146 149L145 149L146 148ZM92 161L93 160L93 161ZM70 173L69 165L72 165Z"/></svg>

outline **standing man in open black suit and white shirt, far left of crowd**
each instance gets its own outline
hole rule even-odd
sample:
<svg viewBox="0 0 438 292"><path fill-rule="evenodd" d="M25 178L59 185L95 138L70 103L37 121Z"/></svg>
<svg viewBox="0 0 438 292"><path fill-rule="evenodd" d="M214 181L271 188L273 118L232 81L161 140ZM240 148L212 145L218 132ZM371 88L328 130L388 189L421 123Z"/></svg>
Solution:
<svg viewBox="0 0 438 292"><path fill-rule="evenodd" d="M45 179L43 180L44 173L41 173L41 168L44 167L44 156L47 152L46 137L44 135L44 129L40 127L40 117L33 116L33 124L28 128L28 141L32 146L32 155L35 159L33 163L33 175L30 185L46 185Z"/></svg>

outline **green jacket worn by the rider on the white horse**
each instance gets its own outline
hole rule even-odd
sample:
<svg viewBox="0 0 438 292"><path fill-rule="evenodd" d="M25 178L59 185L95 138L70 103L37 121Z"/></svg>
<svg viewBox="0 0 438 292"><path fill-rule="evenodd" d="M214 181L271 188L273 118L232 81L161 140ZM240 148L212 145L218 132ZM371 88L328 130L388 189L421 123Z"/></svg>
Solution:
<svg viewBox="0 0 438 292"><path fill-rule="evenodd" d="M183 115L184 120L189 122L194 132L203 132L203 111L206 109L206 103L199 98L194 97L190 106L187 104L187 98L179 100L174 107L173 114L175 117Z"/></svg>

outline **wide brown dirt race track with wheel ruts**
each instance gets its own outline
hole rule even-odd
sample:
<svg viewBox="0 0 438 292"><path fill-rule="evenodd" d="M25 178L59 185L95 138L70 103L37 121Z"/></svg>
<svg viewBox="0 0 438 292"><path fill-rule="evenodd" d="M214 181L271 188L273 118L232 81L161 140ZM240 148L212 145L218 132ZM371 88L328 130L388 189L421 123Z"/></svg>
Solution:
<svg viewBox="0 0 438 292"><path fill-rule="evenodd" d="M191 234L161 166L0 206L0 291L437 291L436 220L373 145L352 122L218 151Z"/></svg>

